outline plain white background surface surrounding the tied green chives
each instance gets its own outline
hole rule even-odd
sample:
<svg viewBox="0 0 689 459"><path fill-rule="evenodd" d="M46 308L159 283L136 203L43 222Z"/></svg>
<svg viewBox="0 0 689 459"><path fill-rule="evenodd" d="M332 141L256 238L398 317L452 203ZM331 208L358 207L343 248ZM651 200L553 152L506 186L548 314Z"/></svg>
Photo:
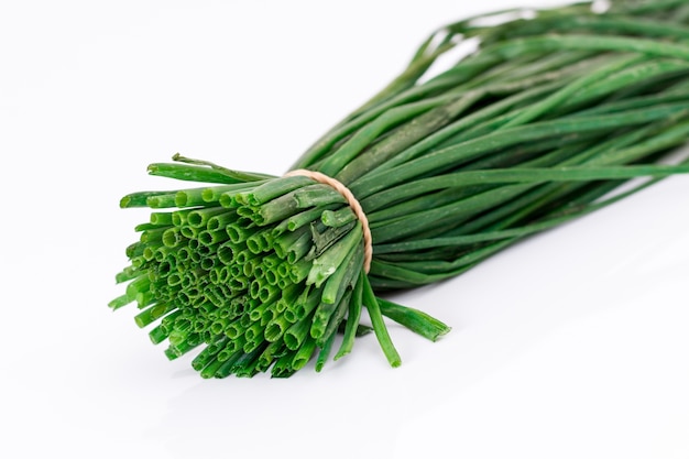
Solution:
<svg viewBox="0 0 689 459"><path fill-rule="evenodd" d="M106 306L147 218L119 198L177 185L149 163L281 174L434 29L520 4L558 2L2 2L0 456L689 457L688 177L396 295L453 330L391 325L395 370L369 336L205 381Z"/></svg>

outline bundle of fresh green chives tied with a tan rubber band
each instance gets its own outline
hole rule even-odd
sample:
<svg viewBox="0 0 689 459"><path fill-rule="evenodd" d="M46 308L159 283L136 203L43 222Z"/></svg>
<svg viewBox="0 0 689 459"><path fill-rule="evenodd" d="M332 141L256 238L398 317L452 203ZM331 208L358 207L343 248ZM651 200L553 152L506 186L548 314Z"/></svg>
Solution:
<svg viewBox="0 0 689 459"><path fill-rule="evenodd" d="M472 18L433 34L296 162L299 172L178 155L153 164L153 175L207 186L122 199L154 211L110 306L135 302L136 324L168 341L169 359L201 348L192 364L204 378L288 376L314 357L320 370L336 341L338 359L371 330L396 367L384 316L430 340L449 328L381 292L458 275L689 172L666 161L689 138L688 21L685 0ZM428 76L464 42L475 51ZM360 324L364 308L371 327Z"/></svg>

